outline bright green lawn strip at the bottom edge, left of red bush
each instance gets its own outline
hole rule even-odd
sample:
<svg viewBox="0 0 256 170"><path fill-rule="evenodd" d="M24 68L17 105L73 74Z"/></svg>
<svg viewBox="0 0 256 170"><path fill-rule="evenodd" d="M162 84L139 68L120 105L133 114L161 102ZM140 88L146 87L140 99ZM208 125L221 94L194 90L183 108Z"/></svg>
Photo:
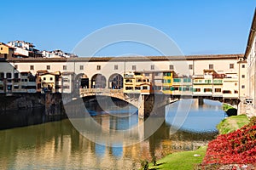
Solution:
<svg viewBox="0 0 256 170"><path fill-rule="evenodd" d="M198 150L182 151L170 154L159 161L156 161L157 166L149 164L149 169L183 169L190 170L195 167L196 164L201 163L207 152L207 146L202 146ZM198 154L201 156L194 156Z"/></svg>

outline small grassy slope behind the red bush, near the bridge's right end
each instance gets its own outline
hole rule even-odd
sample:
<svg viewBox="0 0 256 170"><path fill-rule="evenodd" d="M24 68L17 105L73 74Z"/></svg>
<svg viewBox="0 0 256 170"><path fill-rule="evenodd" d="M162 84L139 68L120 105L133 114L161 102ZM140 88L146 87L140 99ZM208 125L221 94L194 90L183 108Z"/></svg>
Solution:
<svg viewBox="0 0 256 170"><path fill-rule="evenodd" d="M248 123L249 120L246 115L230 116L220 122L217 128L220 134L225 134L234 132Z"/></svg>

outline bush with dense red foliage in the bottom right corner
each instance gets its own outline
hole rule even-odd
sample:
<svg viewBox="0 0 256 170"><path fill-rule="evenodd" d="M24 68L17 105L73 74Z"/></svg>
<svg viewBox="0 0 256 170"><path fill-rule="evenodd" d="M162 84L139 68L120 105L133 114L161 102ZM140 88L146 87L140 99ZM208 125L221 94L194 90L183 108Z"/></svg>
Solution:
<svg viewBox="0 0 256 170"><path fill-rule="evenodd" d="M207 164L255 164L256 117L233 133L218 135L208 144L203 165Z"/></svg>

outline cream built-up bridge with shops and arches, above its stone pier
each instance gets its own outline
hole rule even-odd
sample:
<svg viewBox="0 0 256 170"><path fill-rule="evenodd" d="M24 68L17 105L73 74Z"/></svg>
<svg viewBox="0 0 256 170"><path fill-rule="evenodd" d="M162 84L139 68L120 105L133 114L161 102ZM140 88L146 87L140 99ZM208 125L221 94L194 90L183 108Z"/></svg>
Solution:
<svg viewBox="0 0 256 170"><path fill-rule="evenodd" d="M243 54L5 59L0 62L0 93L31 93L26 87L35 87L38 92L49 88L51 93L73 94L79 89L79 98L106 95L136 106L144 99L161 107L178 96L236 104L246 98L246 65ZM22 82L24 72L36 75L34 85L28 79Z"/></svg>

